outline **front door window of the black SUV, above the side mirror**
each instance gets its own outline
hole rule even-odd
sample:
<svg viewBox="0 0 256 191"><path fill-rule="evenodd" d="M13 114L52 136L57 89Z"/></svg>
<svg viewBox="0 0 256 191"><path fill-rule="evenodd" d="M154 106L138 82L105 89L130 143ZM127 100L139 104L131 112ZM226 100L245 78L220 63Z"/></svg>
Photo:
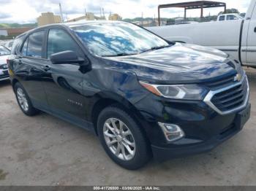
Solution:
<svg viewBox="0 0 256 191"><path fill-rule="evenodd" d="M61 29L50 29L48 34L47 57L50 58L50 55L66 50L77 52L78 56L83 57L80 47L69 34Z"/></svg>

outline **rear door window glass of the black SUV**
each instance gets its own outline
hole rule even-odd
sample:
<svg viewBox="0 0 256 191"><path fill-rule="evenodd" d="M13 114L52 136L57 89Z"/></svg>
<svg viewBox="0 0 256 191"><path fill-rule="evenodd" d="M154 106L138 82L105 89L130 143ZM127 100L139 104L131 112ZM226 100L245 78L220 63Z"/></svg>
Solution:
<svg viewBox="0 0 256 191"><path fill-rule="evenodd" d="M29 44L27 56L42 58L42 44L44 39L44 31L39 31L29 35Z"/></svg>

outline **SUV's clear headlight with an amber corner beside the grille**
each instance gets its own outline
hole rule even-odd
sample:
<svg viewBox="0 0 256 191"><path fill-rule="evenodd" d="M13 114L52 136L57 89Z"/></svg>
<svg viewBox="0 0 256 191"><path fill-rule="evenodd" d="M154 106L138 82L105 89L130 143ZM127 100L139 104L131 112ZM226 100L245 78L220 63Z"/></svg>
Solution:
<svg viewBox="0 0 256 191"><path fill-rule="evenodd" d="M151 85L146 82L140 82L140 85L155 95L173 99L203 100L208 93L198 85Z"/></svg>

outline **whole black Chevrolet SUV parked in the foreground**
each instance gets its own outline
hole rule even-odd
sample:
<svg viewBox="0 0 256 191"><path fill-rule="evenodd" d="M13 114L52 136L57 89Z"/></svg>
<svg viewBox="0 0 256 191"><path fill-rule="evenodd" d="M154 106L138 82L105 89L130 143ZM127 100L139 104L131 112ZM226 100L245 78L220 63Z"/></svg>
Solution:
<svg viewBox="0 0 256 191"><path fill-rule="evenodd" d="M239 61L167 42L131 23L93 21L36 28L8 60L20 109L91 130L127 169L205 152L249 119Z"/></svg>

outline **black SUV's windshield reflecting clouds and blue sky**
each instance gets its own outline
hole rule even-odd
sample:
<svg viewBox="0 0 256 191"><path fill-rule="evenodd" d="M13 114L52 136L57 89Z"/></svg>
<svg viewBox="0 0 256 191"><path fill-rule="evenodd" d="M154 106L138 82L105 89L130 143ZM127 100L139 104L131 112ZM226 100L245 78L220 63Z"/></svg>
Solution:
<svg viewBox="0 0 256 191"><path fill-rule="evenodd" d="M130 23L96 23L72 28L94 55L134 55L169 44Z"/></svg>

